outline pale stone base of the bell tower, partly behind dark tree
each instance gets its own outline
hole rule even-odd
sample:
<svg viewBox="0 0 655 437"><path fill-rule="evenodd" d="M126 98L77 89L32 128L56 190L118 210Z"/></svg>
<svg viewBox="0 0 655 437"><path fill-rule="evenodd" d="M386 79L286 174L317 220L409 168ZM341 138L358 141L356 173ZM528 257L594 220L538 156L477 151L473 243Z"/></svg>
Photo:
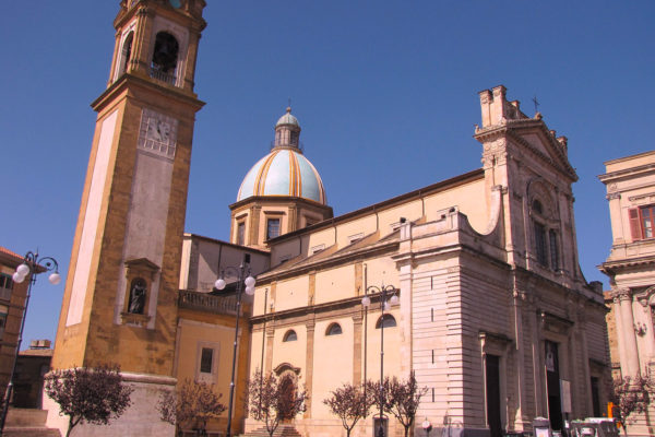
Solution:
<svg viewBox="0 0 655 437"><path fill-rule="evenodd" d="M123 381L134 388L130 398L131 406L119 418L110 421L108 425L78 425L73 434L76 437L174 437L175 426L160 420L156 405L163 391L175 389L177 379L130 373L121 373L121 375ZM43 408L48 411L46 426L59 429L61 435L66 436L68 416L59 415L59 404L48 398L45 392L43 400Z"/></svg>

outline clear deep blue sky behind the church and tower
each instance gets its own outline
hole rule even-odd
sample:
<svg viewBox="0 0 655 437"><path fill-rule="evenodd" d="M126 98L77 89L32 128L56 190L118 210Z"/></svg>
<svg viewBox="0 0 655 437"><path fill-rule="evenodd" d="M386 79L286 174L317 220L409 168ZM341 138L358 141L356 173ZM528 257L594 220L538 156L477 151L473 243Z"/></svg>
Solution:
<svg viewBox="0 0 655 437"><path fill-rule="evenodd" d="M587 281L611 235L604 161L653 150L655 2L207 0L186 229L229 209L291 98L306 156L343 214L478 168L477 93L498 84L569 138ZM0 245L68 263L118 0L3 4ZM24 344L55 338L63 282L39 277Z"/></svg>

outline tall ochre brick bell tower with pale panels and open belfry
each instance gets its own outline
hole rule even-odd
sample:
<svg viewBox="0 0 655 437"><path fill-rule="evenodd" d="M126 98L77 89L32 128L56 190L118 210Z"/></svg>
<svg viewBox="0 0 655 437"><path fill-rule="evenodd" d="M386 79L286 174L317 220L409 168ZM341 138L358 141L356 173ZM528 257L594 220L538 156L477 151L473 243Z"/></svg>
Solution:
<svg viewBox="0 0 655 437"><path fill-rule="evenodd" d="M135 392L111 435L172 435L154 405L176 382L191 144L204 105L193 92L204 7L122 0L109 82L92 104L97 121L52 367L120 365ZM57 412L50 409L49 424Z"/></svg>

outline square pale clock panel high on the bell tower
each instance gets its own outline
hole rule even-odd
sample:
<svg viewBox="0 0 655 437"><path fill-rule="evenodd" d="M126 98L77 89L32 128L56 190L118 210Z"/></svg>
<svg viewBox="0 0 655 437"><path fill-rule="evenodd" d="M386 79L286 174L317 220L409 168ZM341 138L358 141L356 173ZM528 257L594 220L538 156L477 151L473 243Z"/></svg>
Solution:
<svg viewBox="0 0 655 437"><path fill-rule="evenodd" d="M172 117L152 109L143 109L139 146L172 160L177 141L177 125L178 121Z"/></svg>

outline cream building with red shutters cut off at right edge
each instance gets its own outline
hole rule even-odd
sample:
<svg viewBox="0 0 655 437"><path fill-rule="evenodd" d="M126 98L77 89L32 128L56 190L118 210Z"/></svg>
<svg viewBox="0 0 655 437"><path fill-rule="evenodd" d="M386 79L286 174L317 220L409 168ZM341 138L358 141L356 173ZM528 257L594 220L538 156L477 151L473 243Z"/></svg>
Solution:
<svg viewBox="0 0 655 437"><path fill-rule="evenodd" d="M617 377L655 371L655 152L605 163L612 245L599 265L609 276L610 353ZM630 435L653 435L655 409L634 417Z"/></svg>

